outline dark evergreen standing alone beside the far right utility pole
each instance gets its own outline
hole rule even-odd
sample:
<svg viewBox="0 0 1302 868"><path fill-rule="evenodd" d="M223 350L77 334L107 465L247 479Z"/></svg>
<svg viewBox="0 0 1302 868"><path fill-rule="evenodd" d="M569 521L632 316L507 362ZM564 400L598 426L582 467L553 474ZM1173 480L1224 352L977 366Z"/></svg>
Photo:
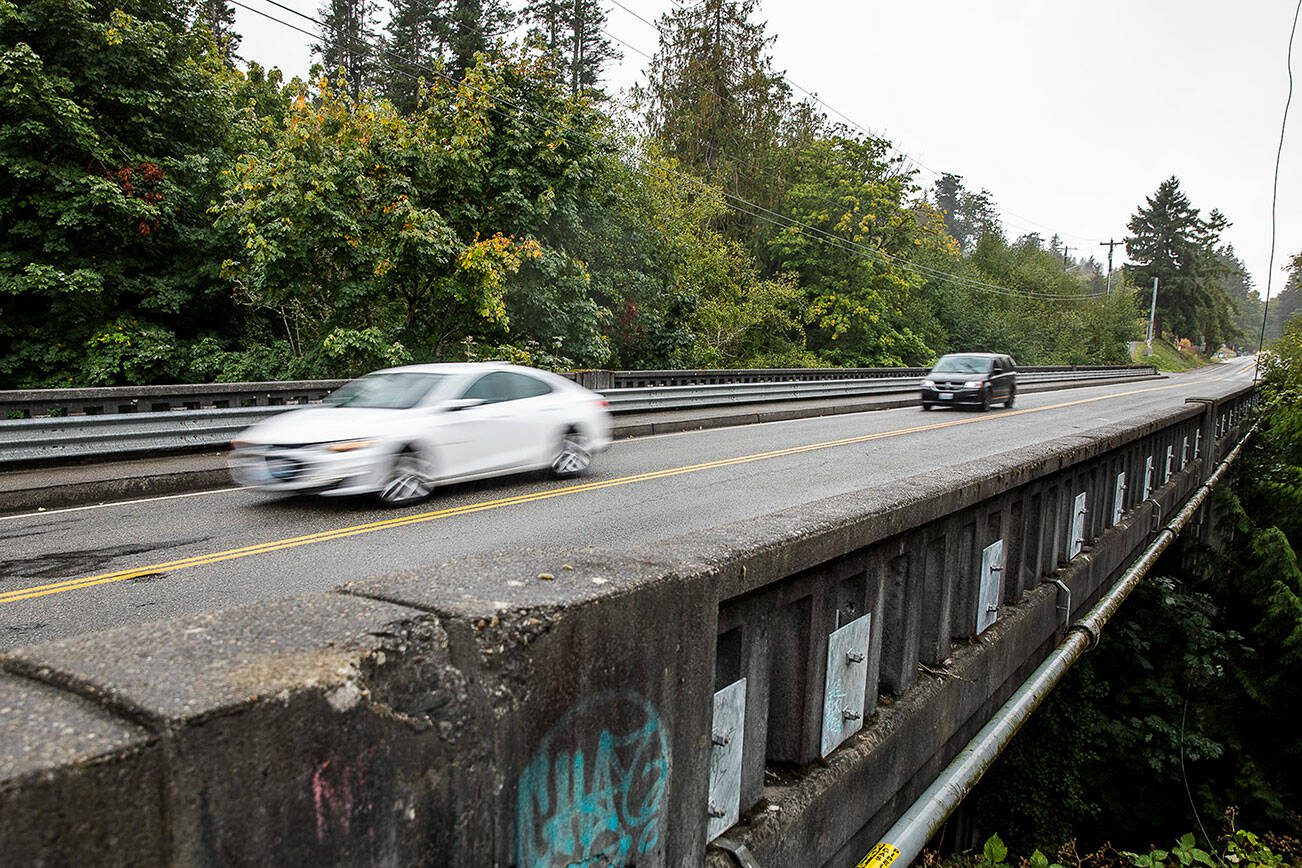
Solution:
<svg viewBox="0 0 1302 868"><path fill-rule="evenodd" d="M1152 286L1157 277L1156 333L1220 344L1233 329L1233 303L1217 282L1216 246L1229 221L1219 211L1203 219L1176 177L1167 178L1126 224L1131 277Z"/></svg>

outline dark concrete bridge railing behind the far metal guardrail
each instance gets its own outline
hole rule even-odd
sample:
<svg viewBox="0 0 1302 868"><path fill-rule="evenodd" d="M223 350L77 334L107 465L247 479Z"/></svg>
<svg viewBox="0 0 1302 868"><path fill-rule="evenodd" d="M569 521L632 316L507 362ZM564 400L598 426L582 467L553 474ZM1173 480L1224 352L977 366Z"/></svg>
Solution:
<svg viewBox="0 0 1302 868"><path fill-rule="evenodd" d="M1154 373L1144 364L1047 366L1021 368L1025 373L1111 371L1118 376ZM883 380L921 377L927 368L746 368L710 371L574 371L572 380L592 389L643 389L669 385L742 383L814 383L819 380ZM284 383L210 383L182 385L96 387L83 389L0 390L0 419L89 416L126 413L172 413L240 407L284 407L316 403L346 380Z"/></svg>

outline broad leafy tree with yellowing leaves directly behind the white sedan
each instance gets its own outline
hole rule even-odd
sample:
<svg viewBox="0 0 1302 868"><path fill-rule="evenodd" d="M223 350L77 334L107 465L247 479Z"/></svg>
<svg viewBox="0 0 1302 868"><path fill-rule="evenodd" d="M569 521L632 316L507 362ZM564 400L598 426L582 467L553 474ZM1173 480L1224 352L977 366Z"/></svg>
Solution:
<svg viewBox="0 0 1302 868"><path fill-rule="evenodd" d="M225 269L243 302L284 324L296 355L331 370L449 358L467 336L504 337L517 311L572 327L555 337L586 340L579 355L595 354L581 278L566 294L543 299L552 284L535 281L512 298L526 263L582 275L548 242L578 221L604 159L599 142L569 134L595 126L589 109L533 64L486 59L464 86L435 82L410 116L322 81L240 160L217 225L243 251ZM504 120L496 100L573 128ZM565 321L575 306L589 316Z"/></svg>

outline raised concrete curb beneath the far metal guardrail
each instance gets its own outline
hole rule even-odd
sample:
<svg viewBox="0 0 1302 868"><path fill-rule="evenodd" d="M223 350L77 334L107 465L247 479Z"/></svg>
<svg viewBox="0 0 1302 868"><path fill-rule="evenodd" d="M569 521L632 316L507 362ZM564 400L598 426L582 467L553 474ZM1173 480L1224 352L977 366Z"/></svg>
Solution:
<svg viewBox="0 0 1302 868"><path fill-rule="evenodd" d="M1078 389L1095 385L1116 385L1118 383L1142 383L1146 380L1164 379L1164 375L1129 376L1107 380L1082 380L1079 383L1035 383L1019 388L1023 394L1036 392L1057 392L1062 389ZM762 424L767 422L788 422L793 419L814 419L820 416L845 415L852 413L868 413L874 410L896 410L900 407L918 406L918 398L889 398L866 397L863 400L837 401L823 406L783 407L775 403L771 410L745 411L736 414L706 414L686 419L639 419L615 420L613 435L618 440L646 437L660 433L680 433L685 431L703 431L712 428L733 428L738 426ZM717 409L716 409L717 410ZM172 457L169 454L169 457ZM26 487L16 487L3 491L3 504L0 515L27 513L46 509L64 509L69 506L89 506L141 497L159 497L163 495L185 495L193 492L211 491L232 485L230 475L225 467L202 467L195 470L171 470L167 472L151 472L146 467L147 459L139 459L142 472L109 478L87 479L77 483L53 481L52 484L35 483ZM115 462L129 463L129 462ZM87 465L96 466L96 465ZM66 467L59 467L66 470ZM3 479L3 472L0 472Z"/></svg>

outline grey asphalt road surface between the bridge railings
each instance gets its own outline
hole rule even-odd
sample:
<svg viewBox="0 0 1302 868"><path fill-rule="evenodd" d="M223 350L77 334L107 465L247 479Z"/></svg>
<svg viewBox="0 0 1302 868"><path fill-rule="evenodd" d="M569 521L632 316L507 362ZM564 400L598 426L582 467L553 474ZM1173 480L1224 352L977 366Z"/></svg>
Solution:
<svg viewBox="0 0 1302 868"><path fill-rule="evenodd" d="M617 442L590 475L443 489L419 506L230 488L0 518L0 648L326 591L471 553L618 549L1122 422L1250 383L1237 359L1118 385Z"/></svg>

